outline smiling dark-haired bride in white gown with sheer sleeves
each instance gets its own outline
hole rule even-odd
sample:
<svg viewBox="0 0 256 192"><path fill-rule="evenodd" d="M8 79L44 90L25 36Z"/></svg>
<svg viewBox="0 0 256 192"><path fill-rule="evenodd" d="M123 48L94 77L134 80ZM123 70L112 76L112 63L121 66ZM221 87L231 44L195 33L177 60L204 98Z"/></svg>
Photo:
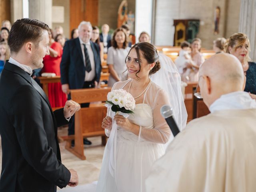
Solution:
<svg viewBox="0 0 256 192"><path fill-rule="evenodd" d="M183 113L178 111L175 118L180 128L184 126L186 112L184 112L184 102L179 87L178 70L174 66L174 77L171 77L172 74L168 75L172 78L171 80L177 82L170 82L171 80L167 77L160 83L159 79L165 76L159 74L160 76L156 79L152 74L160 70L161 66L171 65L171 61L164 58L164 62L167 62L160 66L159 60L161 58L156 48L147 42L135 44L126 57L130 79L116 82L112 90L124 89L132 94L136 101L136 108L134 114L130 114L128 118L108 110L108 115L103 119L102 128L110 138L104 150L97 192L145 191L144 181L150 168L164 154L164 144L169 142L171 136L169 126L160 115L160 108L163 105L172 102L176 110L183 110ZM162 72L167 74L166 70ZM165 91L161 88L162 86L152 82L151 75L158 85L167 89L169 86L176 86L177 90L174 88L168 92L169 97L166 92L169 90ZM185 118L182 119L182 116Z"/></svg>

